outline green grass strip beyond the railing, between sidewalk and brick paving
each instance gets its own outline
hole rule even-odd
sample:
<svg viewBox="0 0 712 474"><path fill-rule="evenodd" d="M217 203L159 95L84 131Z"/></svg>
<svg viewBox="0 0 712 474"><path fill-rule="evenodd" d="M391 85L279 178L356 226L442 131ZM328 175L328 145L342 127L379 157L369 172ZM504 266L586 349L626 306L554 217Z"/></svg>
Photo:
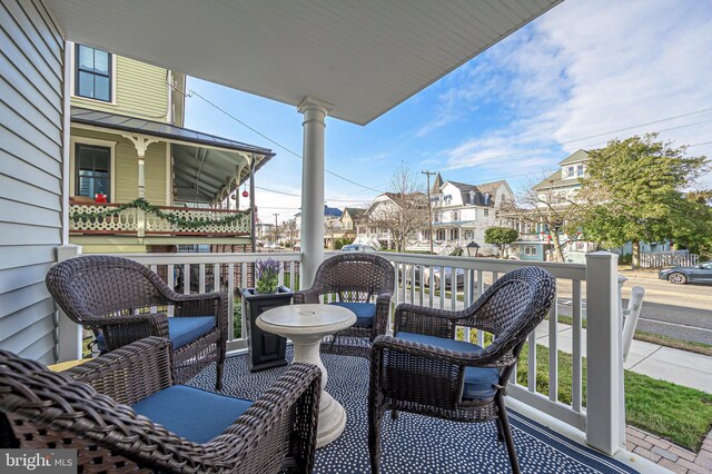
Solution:
<svg viewBox="0 0 712 474"><path fill-rule="evenodd" d="M526 385L528 352L517 365L517 383ZM536 389L548 395L548 348L536 346ZM583 361L583 404L586 404L586 361ZM625 416L636 426L698 452L712 428L712 395L625 371ZM558 399L571 403L572 355L558 352Z"/></svg>

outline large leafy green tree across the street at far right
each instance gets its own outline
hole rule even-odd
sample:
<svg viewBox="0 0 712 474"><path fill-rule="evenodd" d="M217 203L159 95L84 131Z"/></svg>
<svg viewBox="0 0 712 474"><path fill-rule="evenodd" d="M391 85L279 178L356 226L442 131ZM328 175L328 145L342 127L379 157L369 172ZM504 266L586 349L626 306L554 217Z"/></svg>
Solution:
<svg viewBox="0 0 712 474"><path fill-rule="evenodd" d="M614 139L590 151L587 177L582 179L584 206L577 224L584 237L611 246L631 241L634 268L640 267L641 241L678 239L689 245L710 238L709 206L683 194L709 170L706 157L689 157L686 147L673 148L656 138ZM699 221L704 216L706 220Z"/></svg>

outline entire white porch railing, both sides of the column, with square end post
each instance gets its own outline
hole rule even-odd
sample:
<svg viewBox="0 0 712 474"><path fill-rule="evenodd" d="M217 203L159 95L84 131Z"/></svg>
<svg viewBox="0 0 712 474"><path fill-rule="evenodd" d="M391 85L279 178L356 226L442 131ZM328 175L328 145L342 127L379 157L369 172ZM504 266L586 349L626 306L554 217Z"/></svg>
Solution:
<svg viewBox="0 0 712 474"><path fill-rule="evenodd" d="M326 257L336 254L327 253ZM613 454L624 445L622 322L615 255L589 254L586 265L393 253L378 255L394 265L396 288L393 307L407 302L458 309L472 304L492 282L514 268L536 265L548 270L556 278L556 304L551 308L548 322L540 326L542 330L536 329L530 336L526 376L520 384L515 372L508 393L533 408L585 431L587 443L600 451ZM121 256L150 266L169 286L182 293L227 290L230 308L234 307L235 297L239 297L239 288L253 285L251 264L259 258L281 261L279 284L287 284L294 290L300 289L297 274L303 255L297 253ZM244 328L245 312L240 314L240 327ZM567 316L571 325L561 325L560 315ZM584 318L587 322L585 332L582 324ZM234 312L229 312L229 327L234 327ZM393 330L392 322L388 328ZM244 348L245 333L230 333L228 349ZM75 337L69 330L65 334ZM469 330L462 334L465 340L473 337ZM71 337L68 340L72 340ZM476 340L472 342L485 344L482 332L474 338ZM60 342L60 350L61 345ZM537 384L537 373L532 369L536 367L537 345L548 347L548 361L545 364L548 383L545 386ZM571 379L558 378L560 348L571 353ZM584 355L589 381L585 403ZM563 401L561 396L561 389L566 385L571 387L571 401Z"/></svg>

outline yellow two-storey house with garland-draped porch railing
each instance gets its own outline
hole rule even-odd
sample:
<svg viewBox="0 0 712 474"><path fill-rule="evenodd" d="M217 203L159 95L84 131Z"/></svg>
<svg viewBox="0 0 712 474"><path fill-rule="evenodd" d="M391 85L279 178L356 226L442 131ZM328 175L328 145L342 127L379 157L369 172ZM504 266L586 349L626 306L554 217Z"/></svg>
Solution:
<svg viewBox="0 0 712 474"><path fill-rule="evenodd" d="M185 75L70 48L70 241L83 253L247 248L237 190L274 154L182 128Z"/></svg>

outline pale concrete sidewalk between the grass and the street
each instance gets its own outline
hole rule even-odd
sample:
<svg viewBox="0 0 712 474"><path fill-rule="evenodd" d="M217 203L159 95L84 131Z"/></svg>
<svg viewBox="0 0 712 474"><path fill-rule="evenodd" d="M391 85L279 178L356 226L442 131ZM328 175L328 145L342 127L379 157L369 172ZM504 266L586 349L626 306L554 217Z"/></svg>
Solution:
<svg viewBox="0 0 712 474"><path fill-rule="evenodd" d="M556 333L558 349L571 354L572 327L560 323L556 326ZM584 356L586 354L585 335L586 329L582 329L581 352ZM536 342L548 347L548 320L537 326ZM712 393L712 357L710 356L633 339L627 361L623 366L637 374Z"/></svg>

